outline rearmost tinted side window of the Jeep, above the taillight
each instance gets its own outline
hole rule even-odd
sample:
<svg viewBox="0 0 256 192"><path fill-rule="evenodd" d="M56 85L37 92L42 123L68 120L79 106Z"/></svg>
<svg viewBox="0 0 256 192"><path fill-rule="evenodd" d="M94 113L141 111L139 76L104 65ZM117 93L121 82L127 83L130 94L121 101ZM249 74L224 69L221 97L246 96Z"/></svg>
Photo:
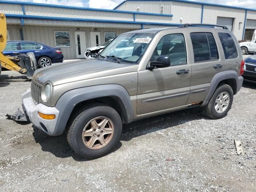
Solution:
<svg viewBox="0 0 256 192"><path fill-rule="evenodd" d="M233 59L238 57L238 53L236 50L236 44L228 33L218 33L220 37L220 42L222 44L225 58L226 59Z"/></svg>

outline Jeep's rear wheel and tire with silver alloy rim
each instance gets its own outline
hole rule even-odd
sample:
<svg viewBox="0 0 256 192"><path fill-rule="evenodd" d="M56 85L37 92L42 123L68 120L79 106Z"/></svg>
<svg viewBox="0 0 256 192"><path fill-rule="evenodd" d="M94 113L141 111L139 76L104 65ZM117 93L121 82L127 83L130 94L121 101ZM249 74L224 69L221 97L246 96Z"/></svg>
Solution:
<svg viewBox="0 0 256 192"><path fill-rule="evenodd" d="M224 94L222 95L223 99L221 99L221 94ZM229 99L227 99L226 95L228 95ZM212 95L212 98L210 99L209 103L203 107L203 114L212 119L223 118L224 116L226 116L226 114L230 110L232 106L233 98L234 98L234 93L232 88L229 85L223 84L221 86L218 86L214 94ZM221 111L221 109L223 111Z"/></svg>

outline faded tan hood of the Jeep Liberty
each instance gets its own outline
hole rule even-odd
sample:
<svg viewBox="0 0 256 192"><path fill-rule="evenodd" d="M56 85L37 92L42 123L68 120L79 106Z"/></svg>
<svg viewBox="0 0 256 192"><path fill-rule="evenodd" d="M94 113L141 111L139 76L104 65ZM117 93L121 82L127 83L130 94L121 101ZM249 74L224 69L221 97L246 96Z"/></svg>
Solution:
<svg viewBox="0 0 256 192"><path fill-rule="evenodd" d="M50 82L53 86L91 78L98 78L138 70L137 64L119 64L104 60L79 60L54 64L34 72L33 80L39 84Z"/></svg>

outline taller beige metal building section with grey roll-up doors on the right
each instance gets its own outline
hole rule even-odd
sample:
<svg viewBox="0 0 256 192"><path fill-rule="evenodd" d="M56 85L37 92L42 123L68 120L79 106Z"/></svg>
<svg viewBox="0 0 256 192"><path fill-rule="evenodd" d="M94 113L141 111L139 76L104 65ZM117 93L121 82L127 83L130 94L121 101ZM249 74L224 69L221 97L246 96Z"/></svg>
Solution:
<svg viewBox="0 0 256 192"><path fill-rule="evenodd" d="M115 10L172 14L172 23L206 23L227 26L238 40L252 38L256 10L188 0L125 0Z"/></svg>

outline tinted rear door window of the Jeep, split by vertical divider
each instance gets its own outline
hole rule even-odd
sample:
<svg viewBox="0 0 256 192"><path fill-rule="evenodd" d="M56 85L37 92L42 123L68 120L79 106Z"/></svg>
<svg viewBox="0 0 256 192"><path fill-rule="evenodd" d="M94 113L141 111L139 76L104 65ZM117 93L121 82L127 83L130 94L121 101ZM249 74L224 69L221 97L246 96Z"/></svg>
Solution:
<svg viewBox="0 0 256 192"><path fill-rule="evenodd" d="M191 33L194 62L218 59L218 50L212 33Z"/></svg>

